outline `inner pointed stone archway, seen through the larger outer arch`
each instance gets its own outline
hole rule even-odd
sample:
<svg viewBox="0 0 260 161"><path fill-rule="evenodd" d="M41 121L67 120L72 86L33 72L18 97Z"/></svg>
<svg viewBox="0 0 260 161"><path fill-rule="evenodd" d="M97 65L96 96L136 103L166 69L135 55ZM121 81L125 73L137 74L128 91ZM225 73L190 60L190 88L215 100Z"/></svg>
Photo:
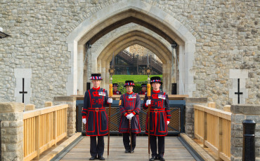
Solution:
<svg viewBox="0 0 260 161"><path fill-rule="evenodd" d="M161 58L163 63L162 76L164 77L163 89L165 92L169 92L170 81L171 81L171 51L156 38L143 33L142 31L130 31L122 36L119 36L114 41L111 41L103 50L97 58L97 65L100 68L97 70L98 73L102 73L103 76L108 74L109 63L112 60L112 53L117 54L119 51L124 50L124 48L130 45L142 45L148 48L150 51L155 53ZM109 77L108 75L103 78L103 85L108 87Z"/></svg>

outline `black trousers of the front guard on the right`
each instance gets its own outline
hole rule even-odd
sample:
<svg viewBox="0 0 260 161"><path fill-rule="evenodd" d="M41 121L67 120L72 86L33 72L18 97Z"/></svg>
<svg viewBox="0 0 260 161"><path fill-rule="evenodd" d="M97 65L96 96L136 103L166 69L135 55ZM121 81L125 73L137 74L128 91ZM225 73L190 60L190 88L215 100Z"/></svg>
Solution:
<svg viewBox="0 0 260 161"><path fill-rule="evenodd" d="M158 139L158 153L157 153L157 139ZM152 151L152 157L163 158L164 156L164 136L150 135L150 148Z"/></svg>

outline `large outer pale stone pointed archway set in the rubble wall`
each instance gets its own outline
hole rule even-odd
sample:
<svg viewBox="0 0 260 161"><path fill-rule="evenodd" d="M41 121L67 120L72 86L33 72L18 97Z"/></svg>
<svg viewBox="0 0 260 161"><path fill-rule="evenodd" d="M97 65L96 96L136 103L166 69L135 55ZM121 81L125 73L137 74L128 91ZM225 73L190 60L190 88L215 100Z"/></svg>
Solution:
<svg viewBox="0 0 260 161"><path fill-rule="evenodd" d="M77 89L83 86L83 76L79 74L80 66L78 66L78 61L81 59L78 57L84 55L84 43L98 35L100 31L104 31L103 29L110 31L114 28L112 25L120 26L129 22L136 22L155 31L169 43L172 43L172 40L178 43L180 74L184 82L184 90L180 94L189 94L191 97L195 90L193 73L190 70L193 67L195 37L169 13L138 0L123 0L117 3L117 6L111 5L99 10L67 36L68 50L71 52L71 73L67 78L67 95L75 94Z"/></svg>

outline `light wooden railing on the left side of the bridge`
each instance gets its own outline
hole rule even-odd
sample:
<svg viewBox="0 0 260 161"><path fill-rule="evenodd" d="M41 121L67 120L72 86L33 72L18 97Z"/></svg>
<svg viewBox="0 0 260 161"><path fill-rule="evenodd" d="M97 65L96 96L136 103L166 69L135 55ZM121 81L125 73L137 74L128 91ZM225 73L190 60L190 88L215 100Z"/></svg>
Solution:
<svg viewBox="0 0 260 161"><path fill-rule="evenodd" d="M23 160L39 155L67 137L67 104L23 113Z"/></svg>

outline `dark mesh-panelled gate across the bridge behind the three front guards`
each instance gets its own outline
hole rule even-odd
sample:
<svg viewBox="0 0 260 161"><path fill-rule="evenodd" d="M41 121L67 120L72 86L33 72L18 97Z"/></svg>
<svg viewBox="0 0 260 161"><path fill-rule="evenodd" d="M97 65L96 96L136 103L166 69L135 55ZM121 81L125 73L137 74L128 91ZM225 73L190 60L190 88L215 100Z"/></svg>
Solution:
<svg viewBox="0 0 260 161"><path fill-rule="evenodd" d="M121 113L118 108L119 100L113 100L111 105L111 116L110 116L110 134L120 134L119 130L119 122ZM143 104L143 100L141 100L141 105ZM82 123L82 107L83 100L77 100L77 121L76 121L76 129L77 132L82 132L82 135L86 135L86 126ZM184 132L184 121L185 121L185 101L184 100L169 100L169 106L171 111L171 120L168 125L168 134L179 134L180 132ZM106 108L106 112L108 113L108 107ZM145 134L145 119L146 113L148 110L143 110L139 113L139 122L141 127L141 134Z"/></svg>

